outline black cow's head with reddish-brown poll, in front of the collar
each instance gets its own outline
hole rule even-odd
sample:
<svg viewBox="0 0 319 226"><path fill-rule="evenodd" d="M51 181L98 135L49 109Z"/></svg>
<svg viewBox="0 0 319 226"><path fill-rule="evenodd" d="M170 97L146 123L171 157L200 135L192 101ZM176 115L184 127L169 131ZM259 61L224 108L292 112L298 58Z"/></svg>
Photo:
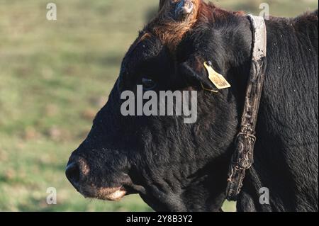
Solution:
<svg viewBox="0 0 319 226"><path fill-rule="evenodd" d="M186 2L161 1L159 12L179 13ZM240 16L198 2L191 1L197 3L192 7L198 16L176 30L178 43L173 33L163 33L165 26L178 29L174 23L181 22L169 18L167 23L159 13L125 55L106 106L69 159L67 178L84 196L118 200L139 193L155 210L220 210L239 124L242 85L237 81L249 71L251 34L249 22ZM164 10L170 4L175 8ZM208 60L231 89L218 94L202 89L201 84L213 86L203 67ZM197 91L196 123L178 115L123 115L121 94L137 94L139 84L156 94Z"/></svg>

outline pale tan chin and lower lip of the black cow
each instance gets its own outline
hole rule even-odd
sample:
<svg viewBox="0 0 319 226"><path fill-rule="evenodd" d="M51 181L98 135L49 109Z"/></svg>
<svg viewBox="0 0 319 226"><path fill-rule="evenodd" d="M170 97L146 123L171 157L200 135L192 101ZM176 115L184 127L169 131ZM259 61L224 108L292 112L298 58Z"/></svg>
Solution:
<svg viewBox="0 0 319 226"><path fill-rule="evenodd" d="M85 198L96 198L100 200L117 201L125 196L126 191L123 187L118 188L96 188L94 186L80 187L79 192Z"/></svg>

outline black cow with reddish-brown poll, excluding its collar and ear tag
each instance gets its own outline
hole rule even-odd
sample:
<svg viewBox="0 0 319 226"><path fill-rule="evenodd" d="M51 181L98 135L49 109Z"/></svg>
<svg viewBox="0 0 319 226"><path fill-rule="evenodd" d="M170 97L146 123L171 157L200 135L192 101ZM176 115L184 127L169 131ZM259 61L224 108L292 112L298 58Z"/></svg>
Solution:
<svg viewBox="0 0 319 226"><path fill-rule="evenodd" d="M69 159L67 178L87 197L139 193L155 210L220 211L250 73L251 24L243 13L200 0L179 18L179 1L164 1L125 55L108 103ZM237 210L318 211L318 10L266 24L254 165ZM230 89L202 89L201 83L214 88L206 61ZM157 92L198 91L196 123L121 115L121 92L136 91L137 84ZM269 205L259 203L262 187L269 188Z"/></svg>

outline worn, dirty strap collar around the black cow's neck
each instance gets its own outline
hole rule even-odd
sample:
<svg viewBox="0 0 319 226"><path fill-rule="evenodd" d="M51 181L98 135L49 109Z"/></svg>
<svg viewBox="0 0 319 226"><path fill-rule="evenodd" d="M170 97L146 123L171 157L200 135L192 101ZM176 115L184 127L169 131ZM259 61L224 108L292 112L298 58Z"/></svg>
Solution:
<svg viewBox="0 0 319 226"><path fill-rule="evenodd" d="M254 163L255 129L267 67L267 28L264 18L252 15L247 17L252 28L252 62L240 131L235 140L235 152L228 172L228 186L226 188L228 200L237 200L246 170L250 169Z"/></svg>

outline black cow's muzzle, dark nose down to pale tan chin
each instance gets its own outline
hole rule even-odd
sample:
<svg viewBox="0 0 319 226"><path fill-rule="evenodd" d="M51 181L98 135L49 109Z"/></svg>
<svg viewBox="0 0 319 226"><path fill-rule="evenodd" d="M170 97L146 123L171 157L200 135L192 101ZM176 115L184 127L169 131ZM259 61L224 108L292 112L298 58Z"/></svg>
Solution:
<svg viewBox="0 0 319 226"><path fill-rule="evenodd" d="M90 168L82 157L71 157L65 175L72 186L82 193L85 198L98 198L101 200L119 200L125 196L123 186L101 187L90 183L88 180Z"/></svg>

